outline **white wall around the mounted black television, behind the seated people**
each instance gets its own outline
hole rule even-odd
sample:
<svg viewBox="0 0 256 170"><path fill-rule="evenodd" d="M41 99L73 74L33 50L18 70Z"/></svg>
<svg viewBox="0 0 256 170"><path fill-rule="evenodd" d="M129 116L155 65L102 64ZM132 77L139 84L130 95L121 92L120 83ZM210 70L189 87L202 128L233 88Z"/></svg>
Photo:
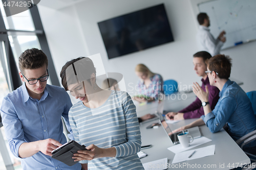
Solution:
<svg viewBox="0 0 256 170"><path fill-rule="evenodd" d="M165 4L175 41L108 60L97 22L161 3ZM189 0L93 0L60 10L39 6L57 71L67 60L100 53L107 72L123 74L128 91L128 84L138 80L134 72L138 63L181 85L200 81L192 63L197 52L197 22L192 9ZM222 51L233 58L231 77L243 81L245 91L255 90L255 45L251 42Z"/></svg>

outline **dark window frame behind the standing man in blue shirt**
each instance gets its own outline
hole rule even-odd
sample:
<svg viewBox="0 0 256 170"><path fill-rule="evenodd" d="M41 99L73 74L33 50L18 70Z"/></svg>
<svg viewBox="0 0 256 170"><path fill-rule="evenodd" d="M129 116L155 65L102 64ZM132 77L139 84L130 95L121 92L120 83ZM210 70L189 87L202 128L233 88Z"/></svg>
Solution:
<svg viewBox="0 0 256 170"><path fill-rule="evenodd" d="M3 3L5 1L6 0L3 0L0 3ZM32 21L35 26L34 31L6 29L4 18L2 15L1 9L0 9L0 41L4 41L5 52L6 52L6 57L0 56L0 59L1 59L1 61L7 61L7 63L6 62L1 62L1 63L3 65L4 74L5 74L6 79L8 80L8 77L9 77L9 80L10 80L10 81L7 81L10 91L13 91L13 90L17 89L19 86L21 86L22 81L19 78L17 64L15 62L11 43L8 38L9 35L31 35L31 34L36 35L37 39L39 41L41 50L47 55L47 58L48 58L48 70L49 70L49 74L51 77L51 83L52 83L52 85L60 86L60 83L59 83L58 77L57 77L57 73L56 73L56 70L54 67L54 63L52 60L52 56L50 53L50 48L49 48L49 45L47 42L46 34L45 34L45 31L44 31L44 28L42 26L42 22L40 19L38 8L37 8L37 6L33 5L33 8L30 8L29 10L31 13ZM2 118L0 115L0 128L1 127L3 127L3 124L2 124ZM1 132L0 132L0 141L3 141L3 135ZM6 168L14 169L6 147L2 147L0 149L0 151L1 151L0 154L2 154L2 156L4 156L4 163L6 165Z"/></svg>

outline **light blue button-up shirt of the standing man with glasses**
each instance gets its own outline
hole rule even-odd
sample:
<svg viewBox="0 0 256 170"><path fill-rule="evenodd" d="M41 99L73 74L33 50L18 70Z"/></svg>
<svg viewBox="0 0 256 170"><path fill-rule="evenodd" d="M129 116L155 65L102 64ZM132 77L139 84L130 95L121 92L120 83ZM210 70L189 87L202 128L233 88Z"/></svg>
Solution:
<svg viewBox="0 0 256 170"><path fill-rule="evenodd" d="M69 137L74 139L68 117L71 106L69 95L63 88L48 84L40 100L29 96L25 83L5 96L1 115L11 152L19 157L20 144L48 138L66 143L61 116L71 133ZM81 169L80 163L68 166L41 152L22 158L22 167L33 170Z"/></svg>

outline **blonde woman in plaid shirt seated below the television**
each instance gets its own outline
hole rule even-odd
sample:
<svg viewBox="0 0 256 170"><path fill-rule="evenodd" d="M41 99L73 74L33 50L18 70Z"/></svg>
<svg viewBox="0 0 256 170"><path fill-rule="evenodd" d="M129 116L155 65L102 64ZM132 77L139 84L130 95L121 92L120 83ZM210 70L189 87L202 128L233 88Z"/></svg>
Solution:
<svg viewBox="0 0 256 170"><path fill-rule="evenodd" d="M138 64L135 68L135 73L140 79L135 89L145 97L134 97L133 99L140 103L158 99L159 93L163 93L162 76L155 74L144 64Z"/></svg>

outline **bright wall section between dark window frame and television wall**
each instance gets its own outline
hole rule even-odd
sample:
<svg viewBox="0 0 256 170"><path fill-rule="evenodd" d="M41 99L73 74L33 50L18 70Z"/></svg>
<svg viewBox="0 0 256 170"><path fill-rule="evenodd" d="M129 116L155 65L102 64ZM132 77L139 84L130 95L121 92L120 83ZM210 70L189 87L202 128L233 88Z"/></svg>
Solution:
<svg viewBox="0 0 256 170"><path fill-rule="evenodd" d="M76 10L73 6L61 10L38 6L38 10L59 75L62 66L70 59L88 56Z"/></svg>

